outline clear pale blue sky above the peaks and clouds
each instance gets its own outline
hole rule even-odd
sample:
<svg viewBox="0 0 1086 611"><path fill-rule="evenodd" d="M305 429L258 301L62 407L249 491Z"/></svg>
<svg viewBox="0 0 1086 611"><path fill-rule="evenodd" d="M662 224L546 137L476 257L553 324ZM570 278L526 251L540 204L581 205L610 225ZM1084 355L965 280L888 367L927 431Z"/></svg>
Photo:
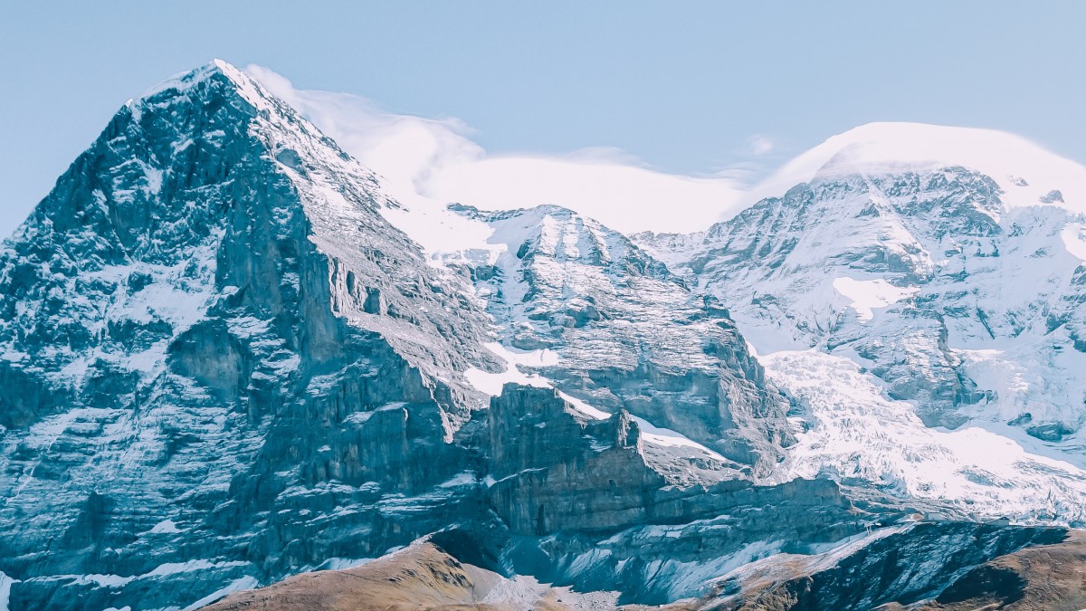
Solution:
<svg viewBox="0 0 1086 611"><path fill-rule="evenodd" d="M871 121L1086 161L1086 2L16 2L0 5L0 229L130 97L219 57L457 116L491 152L618 147L708 173Z"/></svg>

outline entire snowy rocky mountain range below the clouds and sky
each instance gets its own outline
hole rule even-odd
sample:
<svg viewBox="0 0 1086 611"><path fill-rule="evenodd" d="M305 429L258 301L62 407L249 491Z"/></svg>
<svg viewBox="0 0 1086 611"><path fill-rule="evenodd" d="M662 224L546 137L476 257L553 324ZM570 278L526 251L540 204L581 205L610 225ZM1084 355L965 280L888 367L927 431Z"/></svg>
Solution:
<svg viewBox="0 0 1086 611"><path fill-rule="evenodd" d="M714 606L750 570L912 604L1073 538L1081 213L848 167L628 237L400 197L225 62L168 80L0 251L0 609Z"/></svg>

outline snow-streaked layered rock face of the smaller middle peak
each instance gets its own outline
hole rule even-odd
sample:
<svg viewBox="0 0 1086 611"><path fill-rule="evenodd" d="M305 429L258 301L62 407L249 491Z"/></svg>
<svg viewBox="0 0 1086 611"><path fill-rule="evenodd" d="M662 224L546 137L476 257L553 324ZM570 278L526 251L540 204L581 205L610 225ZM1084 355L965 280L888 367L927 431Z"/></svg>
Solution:
<svg viewBox="0 0 1086 611"><path fill-rule="evenodd" d="M621 409L765 476L794 439L788 400L767 384L718 301L694 295L626 236L558 207L462 214L504 249L472 269L478 294L529 365L564 391Z"/></svg>

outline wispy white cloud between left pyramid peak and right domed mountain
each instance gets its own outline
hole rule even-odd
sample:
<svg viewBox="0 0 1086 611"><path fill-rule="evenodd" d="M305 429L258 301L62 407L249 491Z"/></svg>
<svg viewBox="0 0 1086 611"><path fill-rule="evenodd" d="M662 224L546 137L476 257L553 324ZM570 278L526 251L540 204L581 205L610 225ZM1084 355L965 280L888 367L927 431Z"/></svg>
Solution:
<svg viewBox="0 0 1086 611"><path fill-rule="evenodd" d="M553 203L624 233L700 230L743 203L745 186L733 177L665 174L610 148L489 154L459 120L392 114L358 96L296 89L263 66L247 71L384 176L401 199L409 188L435 202L484 210Z"/></svg>

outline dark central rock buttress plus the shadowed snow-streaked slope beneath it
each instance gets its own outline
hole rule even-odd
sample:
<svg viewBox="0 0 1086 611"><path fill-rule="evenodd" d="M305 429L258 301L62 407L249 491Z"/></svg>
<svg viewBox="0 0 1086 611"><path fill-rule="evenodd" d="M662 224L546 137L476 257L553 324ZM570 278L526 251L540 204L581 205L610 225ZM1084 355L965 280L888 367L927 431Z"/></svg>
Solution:
<svg viewBox="0 0 1086 611"><path fill-rule="evenodd" d="M485 566L506 575L661 604L699 595L705 579L752 553L807 553L863 532L864 516L826 479L670 482L668 462L627 412L596 420L551 389L506 386L477 419L491 439L479 445L490 448L478 459L484 498L502 527L466 529L459 540L470 543L450 548L481 549ZM752 551L753 541L765 544Z"/></svg>

